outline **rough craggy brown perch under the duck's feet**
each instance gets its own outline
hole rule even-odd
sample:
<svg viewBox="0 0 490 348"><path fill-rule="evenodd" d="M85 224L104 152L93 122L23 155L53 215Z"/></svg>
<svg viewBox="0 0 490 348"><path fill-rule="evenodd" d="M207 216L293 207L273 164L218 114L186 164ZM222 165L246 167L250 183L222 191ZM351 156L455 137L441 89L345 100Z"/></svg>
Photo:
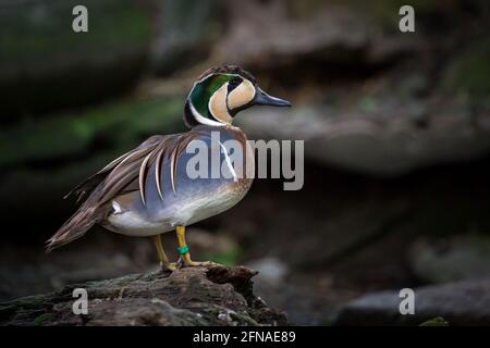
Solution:
<svg viewBox="0 0 490 348"><path fill-rule="evenodd" d="M0 303L0 325L285 325L284 313L253 293L246 268L188 268L64 287ZM88 293L88 315L72 311L74 288Z"/></svg>

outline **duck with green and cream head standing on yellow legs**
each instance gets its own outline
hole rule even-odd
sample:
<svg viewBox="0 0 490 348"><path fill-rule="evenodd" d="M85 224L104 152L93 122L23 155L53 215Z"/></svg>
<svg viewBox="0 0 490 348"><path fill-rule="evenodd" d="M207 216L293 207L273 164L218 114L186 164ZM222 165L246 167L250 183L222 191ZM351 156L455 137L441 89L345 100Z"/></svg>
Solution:
<svg viewBox="0 0 490 348"><path fill-rule="evenodd" d="M291 103L266 94L256 78L237 65L220 65L204 72L185 100L183 121L188 130L154 135L74 187L65 198L76 196L82 203L47 240L46 251L78 239L94 225L100 225L113 233L151 238L162 271L212 263L192 260L186 227L229 210L250 188L254 175L236 173L249 173L255 165L254 152L233 120L240 111L254 105L291 107ZM219 141L212 141L215 135ZM230 161L229 149L223 146L226 140L238 144L242 160L236 163ZM198 141L209 147L204 152L206 159L216 154L212 151L218 148L220 167L228 167L232 175L189 175L195 153L188 149ZM204 164L201 170L200 173L209 173ZM169 261L162 243L163 234L173 231L179 243L176 262Z"/></svg>

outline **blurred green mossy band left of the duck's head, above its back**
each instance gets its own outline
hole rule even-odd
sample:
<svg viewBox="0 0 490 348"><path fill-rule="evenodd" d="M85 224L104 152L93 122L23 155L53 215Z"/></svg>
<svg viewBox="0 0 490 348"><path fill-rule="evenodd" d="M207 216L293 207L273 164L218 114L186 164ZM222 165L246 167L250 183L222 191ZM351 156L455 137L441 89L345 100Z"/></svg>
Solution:
<svg viewBox="0 0 490 348"><path fill-rule="evenodd" d="M123 151L145 136L180 130L183 98L131 99L0 130L0 166L87 151L97 139Z"/></svg>

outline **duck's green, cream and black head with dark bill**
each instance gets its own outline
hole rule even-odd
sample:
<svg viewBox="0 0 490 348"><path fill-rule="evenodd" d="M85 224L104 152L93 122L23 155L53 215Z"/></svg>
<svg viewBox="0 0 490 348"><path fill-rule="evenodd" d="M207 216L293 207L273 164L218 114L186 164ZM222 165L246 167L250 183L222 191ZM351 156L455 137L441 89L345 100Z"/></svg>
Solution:
<svg viewBox="0 0 490 348"><path fill-rule="evenodd" d="M187 127L222 126L253 105L291 107L289 101L261 90L254 76L240 66L212 67L194 84L185 103L184 122Z"/></svg>

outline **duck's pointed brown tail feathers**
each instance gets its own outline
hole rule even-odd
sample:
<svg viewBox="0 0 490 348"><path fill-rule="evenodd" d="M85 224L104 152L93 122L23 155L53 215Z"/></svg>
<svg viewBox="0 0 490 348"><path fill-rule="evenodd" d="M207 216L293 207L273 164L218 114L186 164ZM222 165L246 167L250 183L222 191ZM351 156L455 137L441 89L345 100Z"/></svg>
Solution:
<svg viewBox="0 0 490 348"><path fill-rule="evenodd" d="M81 207L58 232L46 241L46 252L82 237L97 222L95 208Z"/></svg>

